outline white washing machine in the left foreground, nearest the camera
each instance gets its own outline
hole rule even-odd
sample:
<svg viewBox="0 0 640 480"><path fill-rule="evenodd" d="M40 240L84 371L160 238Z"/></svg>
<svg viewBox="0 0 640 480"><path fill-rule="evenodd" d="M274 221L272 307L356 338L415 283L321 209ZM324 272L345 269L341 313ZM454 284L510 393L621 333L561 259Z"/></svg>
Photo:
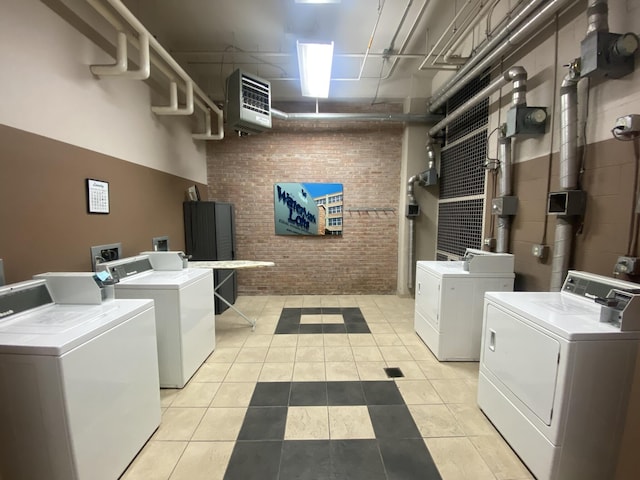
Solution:
<svg viewBox="0 0 640 480"><path fill-rule="evenodd" d="M160 424L153 302L52 294L0 288L0 478L113 480Z"/></svg>

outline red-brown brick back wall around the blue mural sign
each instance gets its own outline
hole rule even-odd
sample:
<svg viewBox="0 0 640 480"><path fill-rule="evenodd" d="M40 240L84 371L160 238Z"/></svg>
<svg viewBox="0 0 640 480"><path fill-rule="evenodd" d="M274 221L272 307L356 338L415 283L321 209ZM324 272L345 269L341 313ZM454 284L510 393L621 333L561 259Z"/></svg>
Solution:
<svg viewBox="0 0 640 480"><path fill-rule="evenodd" d="M296 106L280 109L292 112ZM361 111L353 105L324 111L339 109ZM396 292L401 124L274 120L271 131L228 134L207 148L209 200L235 205L236 257L276 264L240 270L240 294ZM275 235L278 182L342 183L342 237ZM367 207L394 211L349 212Z"/></svg>

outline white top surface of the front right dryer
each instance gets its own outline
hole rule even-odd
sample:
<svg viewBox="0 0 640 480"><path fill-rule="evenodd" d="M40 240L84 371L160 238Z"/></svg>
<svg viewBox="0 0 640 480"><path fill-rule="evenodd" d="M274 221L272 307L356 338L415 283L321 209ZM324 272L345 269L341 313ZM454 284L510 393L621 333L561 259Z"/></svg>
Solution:
<svg viewBox="0 0 640 480"><path fill-rule="evenodd" d="M567 340L640 338L600 322L600 305L588 298L560 292L487 292L485 298Z"/></svg>

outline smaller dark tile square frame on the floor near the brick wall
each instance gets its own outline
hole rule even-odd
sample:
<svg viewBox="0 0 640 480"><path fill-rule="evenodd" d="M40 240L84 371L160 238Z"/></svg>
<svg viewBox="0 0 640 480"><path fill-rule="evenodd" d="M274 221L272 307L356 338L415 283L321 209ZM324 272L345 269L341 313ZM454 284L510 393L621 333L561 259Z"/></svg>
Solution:
<svg viewBox="0 0 640 480"><path fill-rule="evenodd" d="M300 323L302 315L342 315L344 323ZM367 321L357 307L283 308L276 335L307 333L371 333Z"/></svg>

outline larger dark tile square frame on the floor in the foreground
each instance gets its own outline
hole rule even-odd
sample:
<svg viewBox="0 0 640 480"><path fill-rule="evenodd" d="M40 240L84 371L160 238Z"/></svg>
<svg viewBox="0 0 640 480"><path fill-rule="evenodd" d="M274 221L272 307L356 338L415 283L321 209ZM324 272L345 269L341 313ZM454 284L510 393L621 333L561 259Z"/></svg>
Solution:
<svg viewBox="0 0 640 480"><path fill-rule="evenodd" d="M285 440L290 406L365 405L376 438ZM224 480L442 480L395 382L258 382Z"/></svg>

